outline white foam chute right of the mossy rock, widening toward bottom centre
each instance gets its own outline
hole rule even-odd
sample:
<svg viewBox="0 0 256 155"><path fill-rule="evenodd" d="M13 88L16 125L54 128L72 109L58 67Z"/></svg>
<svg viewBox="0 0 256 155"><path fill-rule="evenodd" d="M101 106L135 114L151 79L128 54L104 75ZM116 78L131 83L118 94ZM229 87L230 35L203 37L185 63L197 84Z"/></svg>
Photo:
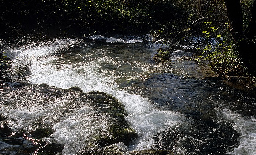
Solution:
<svg viewBox="0 0 256 155"><path fill-rule="evenodd" d="M124 102L129 114L127 120L132 123L139 136L137 143L131 146L132 149L157 149L157 142L154 140L157 134L191 123L191 120L180 113L155 109L150 101L139 95L124 93L121 96L117 98Z"/></svg>

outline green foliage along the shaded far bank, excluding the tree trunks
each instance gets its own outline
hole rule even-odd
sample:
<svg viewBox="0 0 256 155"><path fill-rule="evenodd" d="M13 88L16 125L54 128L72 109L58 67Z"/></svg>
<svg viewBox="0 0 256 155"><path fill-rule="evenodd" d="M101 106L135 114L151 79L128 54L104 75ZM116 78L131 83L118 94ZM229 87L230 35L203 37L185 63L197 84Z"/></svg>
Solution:
<svg viewBox="0 0 256 155"><path fill-rule="evenodd" d="M240 1L244 30L251 19L253 2ZM0 37L20 36L24 42L38 45L42 32L48 34L51 29L61 35L86 30L89 31L86 34L113 30L149 33L151 30L155 40L166 39L172 46L202 50L201 58L214 72L231 74L234 68L237 72L243 70L237 67L237 49L233 48L228 33L224 0L3 0L0 5L3 6ZM25 32L36 37L25 38ZM154 60L159 63L169 54L160 48ZM0 57L0 68L6 68L4 53ZM1 70L1 78L5 72Z"/></svg>

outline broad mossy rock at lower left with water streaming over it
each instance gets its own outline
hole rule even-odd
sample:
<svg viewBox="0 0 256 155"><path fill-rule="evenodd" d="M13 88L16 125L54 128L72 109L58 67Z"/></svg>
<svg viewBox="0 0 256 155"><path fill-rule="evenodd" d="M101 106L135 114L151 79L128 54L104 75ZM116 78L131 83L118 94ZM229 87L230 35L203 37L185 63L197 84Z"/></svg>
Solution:
<svg viewBox="0 0 256 155"><path fill-rule="evenodd" d="M11 131L17 133L13 139L23 135L38 145L38 154L56 146L63 154L84 154L83 150L104 150L116 143L131 145L137 139L122 103L106 93L24 83L4 83L0 90L0 115L9 122L7 136ZM45 142L47 137L54 140Z"/></svg>

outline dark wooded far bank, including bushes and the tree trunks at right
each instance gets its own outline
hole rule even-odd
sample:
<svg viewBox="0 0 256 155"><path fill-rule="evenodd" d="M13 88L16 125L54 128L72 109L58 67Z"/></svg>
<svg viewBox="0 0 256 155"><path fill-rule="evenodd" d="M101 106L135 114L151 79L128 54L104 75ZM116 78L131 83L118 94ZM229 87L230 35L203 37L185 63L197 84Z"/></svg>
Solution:
<svg viewBox="0 0 256 155"><path fill-rule="evenodd" d="M0 38L11 46L17 46L42 45L49 39L102 33L152 34L153 41L161 38L168 40L172 46L185 45L194 51L200 49L204 53L202 57L210 62L216 73L254 76L255 30L252 27L256 23L256 1L234 2L236 3L232 0L3 0L0 2ZM234 20L230 18L232 16ZM245 37L241 37L242 35ZM193 36L199 39L193 39ZM210 41L211 39L215 41ZM213 49L206 51L206 45ZM237 49L230 48L233 45ZM214 52L221 56L216 56ZM226 52L235 54L230 58L227 56L230 54ZM234 64L229 61L234 61ZM230 67L229 64L233 66Z"/></svg>

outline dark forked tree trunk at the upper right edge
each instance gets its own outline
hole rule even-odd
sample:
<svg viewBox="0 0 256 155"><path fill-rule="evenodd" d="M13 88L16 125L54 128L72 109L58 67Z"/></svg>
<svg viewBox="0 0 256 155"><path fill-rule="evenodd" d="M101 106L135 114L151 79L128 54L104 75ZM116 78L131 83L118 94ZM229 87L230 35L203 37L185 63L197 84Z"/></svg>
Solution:
<svg viewBox="0 0 256 155"><path fill-rule="evenodd" d="M256 0L255 0L256 1ZM254 2L255 2L254 1ZM225 0L227 17L229 20L229 30L237 46L237 54L243 65L251 75L256 75L256 46L253 44L252 37L245 35L243 31L242 9L240 0ZM255 36L256 6L253 7L251 22L248 27L248 34ZM251 35L251 34L250 34Z"/></svg>

